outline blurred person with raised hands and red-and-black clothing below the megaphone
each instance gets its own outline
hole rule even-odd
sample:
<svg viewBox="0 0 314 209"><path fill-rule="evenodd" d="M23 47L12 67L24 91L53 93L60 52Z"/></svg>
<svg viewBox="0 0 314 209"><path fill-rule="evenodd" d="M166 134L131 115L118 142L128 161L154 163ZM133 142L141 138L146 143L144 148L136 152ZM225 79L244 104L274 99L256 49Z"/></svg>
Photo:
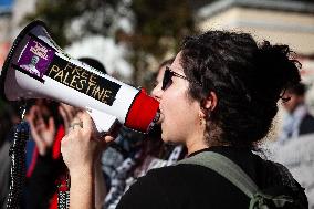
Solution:
<svg viewBox="0 0 314 209"><path fill-rule="evenodd" d="M34 147L28 146L31 163L27 170L23 208L48 209L56 192L55 180L65 169L57 150L65 132L57 111L59 103L36 98L27 113L30 143L34 142Z"/></svg>

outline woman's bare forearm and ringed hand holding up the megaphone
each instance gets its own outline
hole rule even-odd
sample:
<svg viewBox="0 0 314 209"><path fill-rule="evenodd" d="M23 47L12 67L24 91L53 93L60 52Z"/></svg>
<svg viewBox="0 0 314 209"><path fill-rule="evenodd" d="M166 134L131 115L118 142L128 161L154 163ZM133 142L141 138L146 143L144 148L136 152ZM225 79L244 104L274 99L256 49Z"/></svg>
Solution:
<svg viewBox="0 0 314 209"><path fill-rule="evenodd" d="M95 205L98 208L105 195L100 151L114 137L98 139L94 123L85 112L73 119L71 127L61 144L63 160L71 176L70 208L88 209L95 208Z"/></svg>

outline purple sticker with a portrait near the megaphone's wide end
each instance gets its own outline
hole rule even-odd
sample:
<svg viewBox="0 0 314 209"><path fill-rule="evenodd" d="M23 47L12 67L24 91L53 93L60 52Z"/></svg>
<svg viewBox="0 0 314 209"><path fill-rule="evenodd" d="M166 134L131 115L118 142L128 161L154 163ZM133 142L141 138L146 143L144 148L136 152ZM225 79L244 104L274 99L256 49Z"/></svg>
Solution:
<svg viewBox="0 0 314 209"><path fill-rule="evenodd" d="M54 55L54 50L39 40L30 39L18 62L18 66L41 77L45 74Z"/></svg>

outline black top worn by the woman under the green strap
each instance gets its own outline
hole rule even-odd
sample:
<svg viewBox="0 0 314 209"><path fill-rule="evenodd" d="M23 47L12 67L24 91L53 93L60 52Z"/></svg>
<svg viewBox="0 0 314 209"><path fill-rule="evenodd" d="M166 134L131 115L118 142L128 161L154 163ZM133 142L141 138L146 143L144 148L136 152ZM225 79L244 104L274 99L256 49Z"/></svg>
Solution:
<svg viewBox="0 0 314 209"><path fill-rule="evenodd" d="M201 151L207 150L220 153L237 163L260 189L282 182L282 177L276 175L272 166L269 166L269 161L261 159L248 149L213 147ZM300 185L296 181L293 184L302 191L301 198L307 203L306 196ZM145 177L139 178L123 196L117 209L230 209L248 207L249 198L224 177L202 166L180 164L154 169Z"/></svg>

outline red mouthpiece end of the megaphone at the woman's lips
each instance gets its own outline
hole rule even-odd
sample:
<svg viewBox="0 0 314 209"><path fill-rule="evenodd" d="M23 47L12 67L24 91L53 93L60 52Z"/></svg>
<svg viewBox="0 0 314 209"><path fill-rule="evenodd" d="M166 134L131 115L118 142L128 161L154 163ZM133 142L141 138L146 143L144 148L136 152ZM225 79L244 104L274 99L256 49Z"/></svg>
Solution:
<svg viewBox="0 0 314 209"><path fill-rule="evenodd" d="M146 133L158 112L159 102L146 94L144 90L135 96L126 116L125 125Z"/></svg>

